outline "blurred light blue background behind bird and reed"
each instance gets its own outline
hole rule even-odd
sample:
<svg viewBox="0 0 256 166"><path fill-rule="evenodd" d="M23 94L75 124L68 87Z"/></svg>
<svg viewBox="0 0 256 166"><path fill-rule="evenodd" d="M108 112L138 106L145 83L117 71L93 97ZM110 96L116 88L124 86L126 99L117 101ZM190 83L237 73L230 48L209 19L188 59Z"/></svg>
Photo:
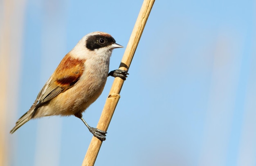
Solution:
<svg viewBox="0 0 256 166"><path fill-rule="evenodd" d="M85 34L126 47L142 3L0 0L0 165L82 164L92 134L76 117L9 131ZM255 0L156 0L95 165L255 166L255 29ZM83 113L91 126L112 82Z"/></svg>

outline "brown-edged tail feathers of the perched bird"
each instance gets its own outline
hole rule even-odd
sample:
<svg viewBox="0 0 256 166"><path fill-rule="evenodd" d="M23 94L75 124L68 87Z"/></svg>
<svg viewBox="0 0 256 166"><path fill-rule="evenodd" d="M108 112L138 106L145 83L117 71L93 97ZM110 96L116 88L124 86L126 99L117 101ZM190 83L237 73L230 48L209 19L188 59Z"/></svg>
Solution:
<svg viewBox="0 0 256 166"><path fill-rule="evenodd" d="M31 108L29 109L29 111L26 112L24 115L22 115L22 117L20 117L20 119L18 119L18 121L16 122L16 125L10 131L11 134L13 132L15 132L18 128L20 128L20 126L24 125L27 121L29 121L30 119L32 119L34 117L37 102L38 101L36 100L34 102L34 104L31 106Z"/></svg>

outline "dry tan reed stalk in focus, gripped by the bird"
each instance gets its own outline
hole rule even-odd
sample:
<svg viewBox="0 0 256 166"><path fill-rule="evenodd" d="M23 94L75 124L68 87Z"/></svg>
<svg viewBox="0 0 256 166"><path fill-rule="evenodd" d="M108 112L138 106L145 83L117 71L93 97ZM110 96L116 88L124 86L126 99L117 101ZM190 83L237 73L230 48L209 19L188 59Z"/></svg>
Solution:
<svg viewBox="0 0 256 166"><path fill-rule="evenodd" d="M150 11L153 7L154 2L155 2L155 0L144 0L143 4L141 6L141 10L139 12L139 16L138 16L135 26L132 30L130 40L129 40L126 50L124 52L124 56L122 58L119 69L121 69L121 70L129 69L130 64L132 62L133 55L135 54L137 45L139 43L139 39L144 30L144 27L146 25L148 16L150 14ZM117 106L117 103L119 101L119 98L120 98L119 93L121 91L123 84L124 84L124 80L122 80L119 77L115 78L115 80L112 84L110 93L108 95L108 98L106 100L105 106L102 110L101 117L100 117L99 123L97 125L98 129L107 131L109 123L111 121L111 118L114 114L115 108ZM93 166L94 165L97 155L99 153L101 144L102 144L101 140L97 139L96 137L92 137L91 143L88 147L88 150L87 150L87 153L83 160L82 166Z"/></svg>

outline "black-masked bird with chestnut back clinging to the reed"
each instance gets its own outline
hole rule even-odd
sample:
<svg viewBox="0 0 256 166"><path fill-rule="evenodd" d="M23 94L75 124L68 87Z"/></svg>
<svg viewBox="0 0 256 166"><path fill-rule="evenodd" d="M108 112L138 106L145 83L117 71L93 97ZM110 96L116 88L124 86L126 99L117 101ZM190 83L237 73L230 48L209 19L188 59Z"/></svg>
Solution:
<svg viewBox="0 0 256 166"><path fill-rule="evenodd" d="M12 134L30 119L47 116L74 115L98 139L106 140L106 131L90 127L82 113L101 95L108 76L126 80L126 70L109 71L110 56L115 48L123 48L105 32L83 36L68 52L38 93L31 108L16 122Z"/></svg>

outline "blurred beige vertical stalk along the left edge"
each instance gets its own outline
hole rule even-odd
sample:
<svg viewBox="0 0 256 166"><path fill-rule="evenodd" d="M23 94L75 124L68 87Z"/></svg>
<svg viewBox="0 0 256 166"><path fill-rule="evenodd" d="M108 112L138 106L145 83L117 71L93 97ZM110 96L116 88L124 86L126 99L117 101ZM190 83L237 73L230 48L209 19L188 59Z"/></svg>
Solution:
<svg viewBox="0 0 256 166"><path fill-rule="evenodd" d="M10 165L8 150L13 148L9 129L16 119L24 9L25 0L0 2L0 166Z"/></svg>

